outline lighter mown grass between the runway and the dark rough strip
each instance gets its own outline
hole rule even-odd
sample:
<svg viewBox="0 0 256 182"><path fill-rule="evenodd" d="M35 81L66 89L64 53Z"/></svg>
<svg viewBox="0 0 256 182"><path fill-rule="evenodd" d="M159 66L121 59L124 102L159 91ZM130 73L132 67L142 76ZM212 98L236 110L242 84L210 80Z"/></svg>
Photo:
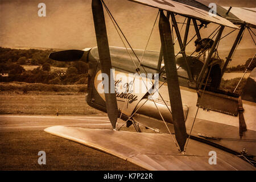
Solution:
<svg viewBox="0 0 256 182"><path fill-rule="evenodd" d="M85 102L85 94L57 95L52 93L0 92L0 114L101 114Z"/></svg>

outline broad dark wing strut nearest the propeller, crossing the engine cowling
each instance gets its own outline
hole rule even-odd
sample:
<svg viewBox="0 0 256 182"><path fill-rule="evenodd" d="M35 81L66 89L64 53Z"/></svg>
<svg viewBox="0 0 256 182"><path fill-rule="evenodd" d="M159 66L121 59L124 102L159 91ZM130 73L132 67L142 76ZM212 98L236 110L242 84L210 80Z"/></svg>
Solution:
<svg viewBox="0 0 256 182"><path fill-rule="evenodd" d="M115 129L117 123L118 109L117 109L117 98L115 97L114 78L110 69L112 68L108 35L106 32L106 24L104 18L104 11L100 0L92 0L92 13L94 28L96 32L98 55L100 58L101 73L108 75L108 90L105 91L106 109L108 112L109 120ZM110 92L112 91L112 92Z"/></svg>

